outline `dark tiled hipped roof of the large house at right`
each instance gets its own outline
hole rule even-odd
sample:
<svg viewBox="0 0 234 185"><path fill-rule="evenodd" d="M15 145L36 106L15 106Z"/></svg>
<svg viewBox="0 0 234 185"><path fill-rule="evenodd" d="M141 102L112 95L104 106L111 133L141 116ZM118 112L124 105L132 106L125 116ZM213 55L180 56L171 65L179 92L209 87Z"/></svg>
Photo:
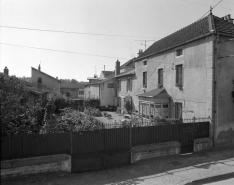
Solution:
<svg viewBox="0 0 234 185"><path fill-rule="evenodd" d="M205 18L156 41L146 51L144 51L137 60L181 46L187 42L191 42L214 33L234 37L234 24L209 14Z"/></svg>

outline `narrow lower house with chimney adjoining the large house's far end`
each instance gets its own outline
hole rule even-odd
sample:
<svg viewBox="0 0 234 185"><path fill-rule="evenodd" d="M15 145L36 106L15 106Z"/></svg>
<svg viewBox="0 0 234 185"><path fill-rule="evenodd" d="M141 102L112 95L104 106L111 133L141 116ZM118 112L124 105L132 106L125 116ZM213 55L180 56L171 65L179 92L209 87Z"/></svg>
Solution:
<svg viewBox="0 0 234 185"><path fill-rule="evenodd" d="M117 60L115 65L115 84L116 84L116 106L121 108L121 113L124 113L124 104L129 101L131 110L135 110L134 103L132 101L134 91L133 86L136 80L135 76L135 62L131 59L120 66L120 62Z"/></svg>

